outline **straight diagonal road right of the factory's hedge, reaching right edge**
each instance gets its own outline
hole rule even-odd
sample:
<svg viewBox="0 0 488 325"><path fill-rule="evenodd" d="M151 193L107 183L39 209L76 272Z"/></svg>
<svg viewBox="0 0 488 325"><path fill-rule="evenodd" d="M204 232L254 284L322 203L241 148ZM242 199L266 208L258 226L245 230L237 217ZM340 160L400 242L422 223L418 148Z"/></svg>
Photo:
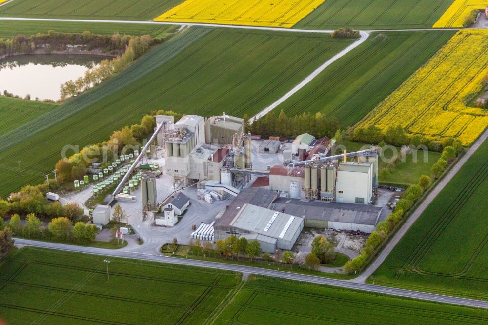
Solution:
<svg viewBox="0 0 488 325"><path fill-rule="evenodd" d="M396 232L393 238L386 244L385 248L381 251L380 255L366 268L366 270L361 273L361 275L355 279L350 280L351 282L355 283L365 283L366 279L369 278L374 271L380 265L385 262L386 256L391 253L393 247L403 238L403 236L407 233L407 230L412 226L413 223L419 219L419 217L424 213L427 206L432 203L432 201L439 195L444 187L446 187L447 183L457 174L459 169L463 167L463 165L468 161L468 159L474 154L476 150L480 147L480 145L485 142L488 138L488 129L478 138L476 142L468 149L468 152L456 163L446 174L446 176L434 187L434 189L427 195L427 198L415 209L415 211L411 214L411 216L407 219L407 221L402 225L402 227Z"/></svg>

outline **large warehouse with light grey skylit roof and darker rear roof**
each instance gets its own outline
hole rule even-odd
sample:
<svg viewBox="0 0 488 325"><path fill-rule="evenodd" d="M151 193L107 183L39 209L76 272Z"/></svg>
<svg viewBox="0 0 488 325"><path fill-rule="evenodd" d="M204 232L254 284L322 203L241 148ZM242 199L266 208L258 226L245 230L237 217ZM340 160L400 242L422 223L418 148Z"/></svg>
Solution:
<svg viewBox="0 0 488 325"><path fill-rule="evenodd" d="M269 209L276 199L273 191L243 190L214 224L215 240L236 235L256 239L266 252L291 249L304 228L304 219Z"/></svg>

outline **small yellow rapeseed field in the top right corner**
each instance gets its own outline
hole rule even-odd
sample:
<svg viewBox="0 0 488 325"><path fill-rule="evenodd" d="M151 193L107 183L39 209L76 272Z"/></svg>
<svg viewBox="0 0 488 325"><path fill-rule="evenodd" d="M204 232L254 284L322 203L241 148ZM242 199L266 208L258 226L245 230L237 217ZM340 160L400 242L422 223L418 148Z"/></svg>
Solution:
<svg viewBox="0 0 488 325"><path fill-rule="evenodd" d="M487 5L487 0L454 0L432 27L463 27L464 20L472 10L485 9Z"/></svg>

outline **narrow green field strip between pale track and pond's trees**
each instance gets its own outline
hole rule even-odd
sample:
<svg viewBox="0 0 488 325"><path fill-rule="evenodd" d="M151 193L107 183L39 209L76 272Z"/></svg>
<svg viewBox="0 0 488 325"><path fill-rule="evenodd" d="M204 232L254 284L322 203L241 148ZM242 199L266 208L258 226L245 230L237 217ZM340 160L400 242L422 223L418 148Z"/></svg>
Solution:
<svg viewBox="0 0 488 325"><path fill-rule="evenodd" d="M175 28L179 27L113 22L0 20L0 39L12 38L19 34L29 37L37 33L47 33L50 30L64 33L90 31L94 34L113 34L118 32L126 35L151 35L154 38L160 38L166 36L168 32Z"/></svg>

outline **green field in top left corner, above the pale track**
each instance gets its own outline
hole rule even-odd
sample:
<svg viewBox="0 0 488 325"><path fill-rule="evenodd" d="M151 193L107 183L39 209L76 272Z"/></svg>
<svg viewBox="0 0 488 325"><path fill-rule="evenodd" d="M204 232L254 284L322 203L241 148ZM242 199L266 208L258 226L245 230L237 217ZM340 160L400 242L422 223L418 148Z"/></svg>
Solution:
<svg viewBox="0 0 488 325"><path fill-rule="evenodd" d="M0 17L151 20L182 0L14 0Z"/></svg>

